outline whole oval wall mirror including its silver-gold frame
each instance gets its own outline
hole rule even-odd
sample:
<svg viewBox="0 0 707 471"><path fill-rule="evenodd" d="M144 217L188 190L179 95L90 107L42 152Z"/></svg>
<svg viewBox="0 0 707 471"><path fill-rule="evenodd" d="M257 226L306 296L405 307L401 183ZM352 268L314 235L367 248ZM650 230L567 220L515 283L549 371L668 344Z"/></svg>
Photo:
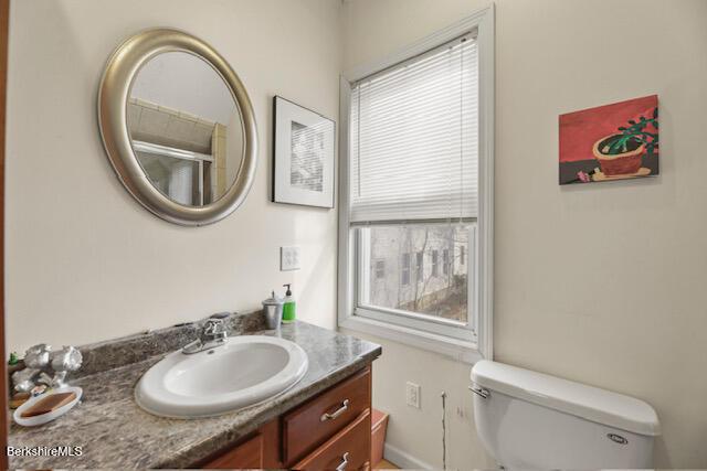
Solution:
<svg viewBox="0 0 707 471"><path fill-rule="evenodd" d="M128 39L108 61L98 119L118 178L163 220L210 224L244 201L256 160L252 106L203 41L166 29Z"/></svg>

